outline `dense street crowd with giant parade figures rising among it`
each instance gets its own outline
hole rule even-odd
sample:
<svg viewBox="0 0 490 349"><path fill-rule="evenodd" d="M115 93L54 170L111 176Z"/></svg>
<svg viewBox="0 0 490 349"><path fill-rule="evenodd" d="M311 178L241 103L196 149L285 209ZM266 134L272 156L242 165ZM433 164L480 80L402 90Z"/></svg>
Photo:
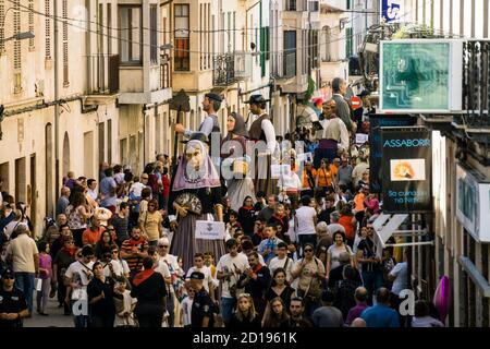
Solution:
<svg viewBox="0 0 490 349"><path fill-rule="evenodd" d="M98 179L69 172L39 238L25 204L2 193L0 326L22 326L34 305L49 315L54 297L77 327L442 326L424 300L413 318L399 312L407 251L379 251L369 147L353 142L367 118L351 111L343 80L332 87L320 127L284 137L253 95L256 120L247 131L231 113L221 152L209 144L224 134L222 98L207 94L199 130L175 127L186 140L176 167L158 155L138 174L108 164ZM265 144L256 156L250 141ZM272 174L273 164L287 170ZM197 237L203 220L222 222L222 236Z"/></svg>

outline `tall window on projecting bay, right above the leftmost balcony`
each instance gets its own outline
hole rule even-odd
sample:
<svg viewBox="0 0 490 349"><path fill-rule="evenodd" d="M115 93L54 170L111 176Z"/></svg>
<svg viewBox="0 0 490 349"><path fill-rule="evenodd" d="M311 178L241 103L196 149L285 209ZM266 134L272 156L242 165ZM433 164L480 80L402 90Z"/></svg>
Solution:
<svg viewBox="0 0 490 349"><path fill-rule="evenodd" d="M120 55L121 63L140 65L143 63L143 13L142 7L120 7Z"/></svg>

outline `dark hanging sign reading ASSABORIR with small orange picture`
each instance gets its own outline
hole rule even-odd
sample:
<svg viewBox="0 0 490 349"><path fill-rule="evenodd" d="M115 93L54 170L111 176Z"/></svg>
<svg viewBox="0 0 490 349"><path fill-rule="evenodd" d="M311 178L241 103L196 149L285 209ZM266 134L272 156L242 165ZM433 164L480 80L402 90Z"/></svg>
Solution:
<svg viewBox="0 0 490 349"><path fill-rule="evenodd" d="M432 212L431 136L418 127L381 129L383 212Z"/></svg>

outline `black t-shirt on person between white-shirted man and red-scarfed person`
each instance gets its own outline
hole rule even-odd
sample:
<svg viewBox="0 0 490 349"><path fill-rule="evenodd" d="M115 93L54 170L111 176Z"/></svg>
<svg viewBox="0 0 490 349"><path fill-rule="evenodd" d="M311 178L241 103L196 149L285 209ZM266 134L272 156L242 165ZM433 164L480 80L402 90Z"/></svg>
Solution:
<svg viewBox="0 0 490 349"><path fill-rule="evenodd" d="M110 277L106 277L102 282L99 278L94 278L87 285L88 302L96 297L99 297L103 291L103 299L97 303L89 304L90 314L96 316L110 316L115 313L114 306L114 281Z"/></svg>

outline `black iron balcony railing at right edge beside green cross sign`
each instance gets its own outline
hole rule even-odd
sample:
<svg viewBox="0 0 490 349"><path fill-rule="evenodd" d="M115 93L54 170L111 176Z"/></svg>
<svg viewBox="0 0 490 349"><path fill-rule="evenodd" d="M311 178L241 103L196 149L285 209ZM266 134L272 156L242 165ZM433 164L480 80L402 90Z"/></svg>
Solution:
<svg viewBox="0 0 490 349"><path fill-rule="evenodd" d="M490 128L490 40L463 44L463 110L465 127Z"/></svg>

